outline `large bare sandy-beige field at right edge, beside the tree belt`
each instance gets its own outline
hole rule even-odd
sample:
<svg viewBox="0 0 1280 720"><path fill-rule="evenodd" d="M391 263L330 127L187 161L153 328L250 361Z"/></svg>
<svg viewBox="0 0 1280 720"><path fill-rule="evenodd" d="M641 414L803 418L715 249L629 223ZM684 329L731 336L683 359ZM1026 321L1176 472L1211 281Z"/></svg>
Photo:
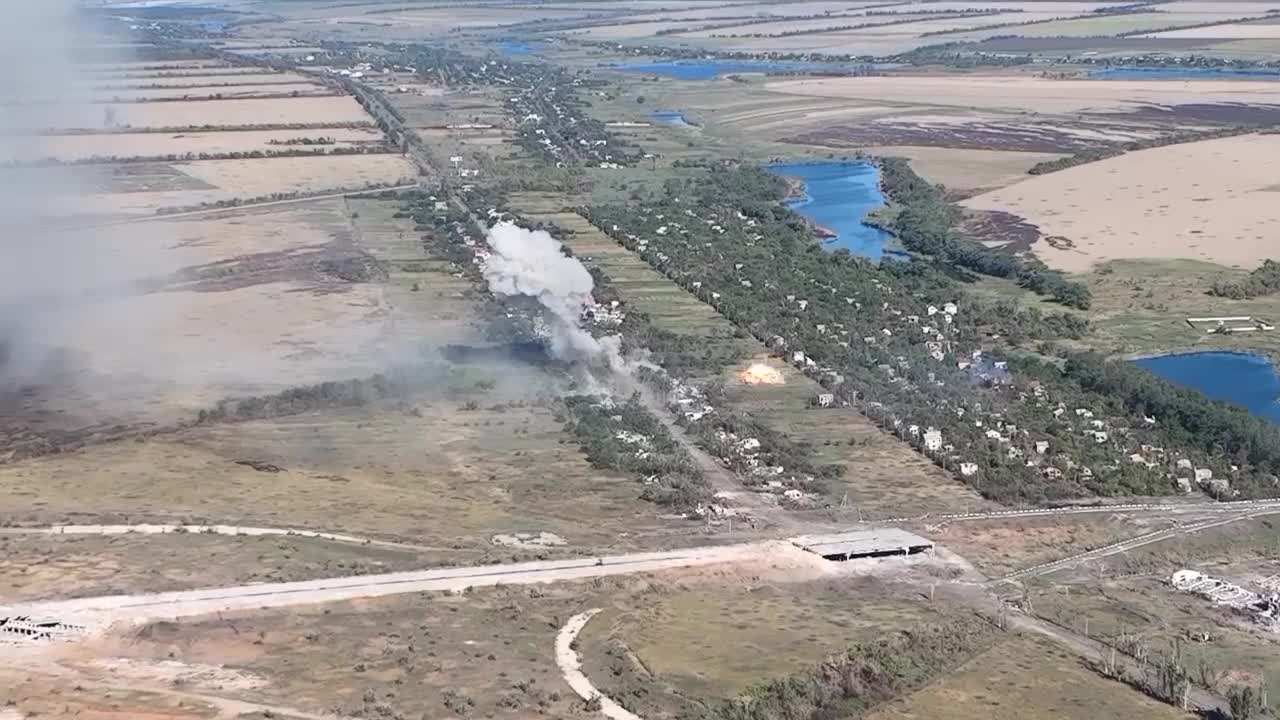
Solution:
<svg viewBox="0 0 1280 720"><path fill-rule="evenodd" d="M1275 255L1280 136L1239 136L1078 165L964 202L1066 242L1036 254L1064 270L1116 258L1196 258L1252 268ZM1060 249L1061 247L1061 249Z"/></svg>

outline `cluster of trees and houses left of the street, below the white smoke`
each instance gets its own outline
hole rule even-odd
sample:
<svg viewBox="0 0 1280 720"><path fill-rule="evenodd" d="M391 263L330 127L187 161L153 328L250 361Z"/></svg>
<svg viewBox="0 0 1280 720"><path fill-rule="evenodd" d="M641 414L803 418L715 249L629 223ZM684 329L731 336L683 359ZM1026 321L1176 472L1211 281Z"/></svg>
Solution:
<svg viewBox="0 0 1280 720"><path fill-rule="evenodd" d="M641 478L641 497L689 511L712 500L701 469L640 398L623 404L585 395L564 398L564 428L593 468Z"/></svg>

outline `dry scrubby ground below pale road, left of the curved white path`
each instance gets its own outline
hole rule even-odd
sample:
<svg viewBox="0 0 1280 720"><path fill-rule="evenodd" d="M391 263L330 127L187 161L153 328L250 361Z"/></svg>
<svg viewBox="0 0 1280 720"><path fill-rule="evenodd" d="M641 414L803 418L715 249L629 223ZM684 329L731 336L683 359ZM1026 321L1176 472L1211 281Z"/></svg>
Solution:
<svg viewBox="0 0 1280 720"><path fill-rule="evenodd" d="M102 659L73 666L90 678L168 669L189 692L312 716L571 717L582 701L556 666L556 633L609 587L422 593L155 623L93 643Z"/></svg>

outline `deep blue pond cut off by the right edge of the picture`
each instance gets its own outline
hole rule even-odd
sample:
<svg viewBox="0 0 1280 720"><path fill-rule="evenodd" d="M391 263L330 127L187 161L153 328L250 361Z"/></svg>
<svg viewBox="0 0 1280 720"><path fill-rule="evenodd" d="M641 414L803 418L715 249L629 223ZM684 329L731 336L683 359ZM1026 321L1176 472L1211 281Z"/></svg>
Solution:
<svg viewBox="0 0 1280 720"><path fill-rule="evenodd" d="M1252 352L1188 352L1134 360L1171 383L1190 387L1213 400L1243 405L1261 418L1280 423L1280 375L1271 361Z"/></svg>

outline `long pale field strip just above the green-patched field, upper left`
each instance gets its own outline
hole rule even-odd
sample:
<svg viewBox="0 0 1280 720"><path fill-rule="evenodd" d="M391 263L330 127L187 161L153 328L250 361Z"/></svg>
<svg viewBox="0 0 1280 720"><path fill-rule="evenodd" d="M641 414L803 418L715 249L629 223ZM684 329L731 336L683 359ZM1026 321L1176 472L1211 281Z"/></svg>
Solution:
<svg viewBox="0 0 1280 720"><path fill-rule="evenodd" d="M330 137L333 145L273 145L271 141ZM380 145L384 136L376 128L312 128L179 133L45 135L23 143L5 145L5 161L36 161L54 158L72 161L87 158L159 158L168 155L314 150Z"/></svg>

